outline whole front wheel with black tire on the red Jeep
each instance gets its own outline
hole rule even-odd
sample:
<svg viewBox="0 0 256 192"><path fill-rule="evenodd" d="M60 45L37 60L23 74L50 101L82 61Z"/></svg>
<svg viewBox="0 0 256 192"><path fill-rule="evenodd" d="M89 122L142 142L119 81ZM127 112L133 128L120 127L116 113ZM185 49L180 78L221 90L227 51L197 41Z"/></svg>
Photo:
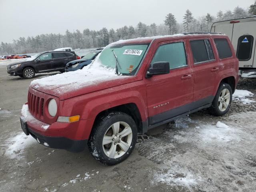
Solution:
<svg viewBox="0 0 256 192"><path fill-rule="evenodd" d="M88 146L96 160L114 165L130 156L136 140L137 126L132 117L122 112L111 112L98 119Z"/></svg>

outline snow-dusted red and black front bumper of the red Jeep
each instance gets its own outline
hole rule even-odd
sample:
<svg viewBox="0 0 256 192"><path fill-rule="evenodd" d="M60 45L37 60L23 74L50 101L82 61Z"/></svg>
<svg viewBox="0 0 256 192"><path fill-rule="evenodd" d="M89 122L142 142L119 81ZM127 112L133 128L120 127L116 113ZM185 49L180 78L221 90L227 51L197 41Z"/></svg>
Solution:
<svg viewBox="0 0 256 192"><path fill-rule="evenodd" d="M22 128L25 134L30 134L40 144L50 148L72 152L84 150L90 136L90 130L86 130L86 125L88 126L91 120L79 120L72 123L55 122L48 125L34 118L24 106L20 119L26 124L27 132Z"/></svg>

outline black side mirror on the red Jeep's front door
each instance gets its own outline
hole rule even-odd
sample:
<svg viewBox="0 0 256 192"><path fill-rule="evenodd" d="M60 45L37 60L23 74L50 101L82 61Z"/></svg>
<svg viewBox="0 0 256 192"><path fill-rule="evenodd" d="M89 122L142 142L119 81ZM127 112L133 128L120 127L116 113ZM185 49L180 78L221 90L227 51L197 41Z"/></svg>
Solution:
<svg viewBox="0 0 256 192"><path fill-rule="evenodd" d="M148 69L146 78L150 78L153 75L161 75L161 74L168 74L170 73L170 64L169 62L155 62L152 66Z"/></svg>

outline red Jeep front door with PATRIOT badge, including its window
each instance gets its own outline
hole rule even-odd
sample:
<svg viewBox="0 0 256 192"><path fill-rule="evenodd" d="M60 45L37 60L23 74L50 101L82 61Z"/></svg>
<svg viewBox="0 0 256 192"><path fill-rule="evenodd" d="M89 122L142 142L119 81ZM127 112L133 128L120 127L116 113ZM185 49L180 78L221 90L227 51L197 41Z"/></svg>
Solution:
<svg viewBox="0 0 256 192"><path fill-rule="evenodd" d="M146 78L149 124L168 120L190 110L194 73L184 40L160 42L150 64L169 62L170 73Z"/></svg>

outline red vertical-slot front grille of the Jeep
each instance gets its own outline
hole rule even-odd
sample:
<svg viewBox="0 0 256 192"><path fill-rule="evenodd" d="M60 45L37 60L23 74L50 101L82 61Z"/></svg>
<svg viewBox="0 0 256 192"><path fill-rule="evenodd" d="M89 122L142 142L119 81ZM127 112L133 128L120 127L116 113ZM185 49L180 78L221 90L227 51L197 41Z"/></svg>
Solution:
<svg viewBox="0 0 256 192"><path fill-rule="evenodd" d="M28 110L36 118L44 119L44 98L28 92Z"/></svg>

